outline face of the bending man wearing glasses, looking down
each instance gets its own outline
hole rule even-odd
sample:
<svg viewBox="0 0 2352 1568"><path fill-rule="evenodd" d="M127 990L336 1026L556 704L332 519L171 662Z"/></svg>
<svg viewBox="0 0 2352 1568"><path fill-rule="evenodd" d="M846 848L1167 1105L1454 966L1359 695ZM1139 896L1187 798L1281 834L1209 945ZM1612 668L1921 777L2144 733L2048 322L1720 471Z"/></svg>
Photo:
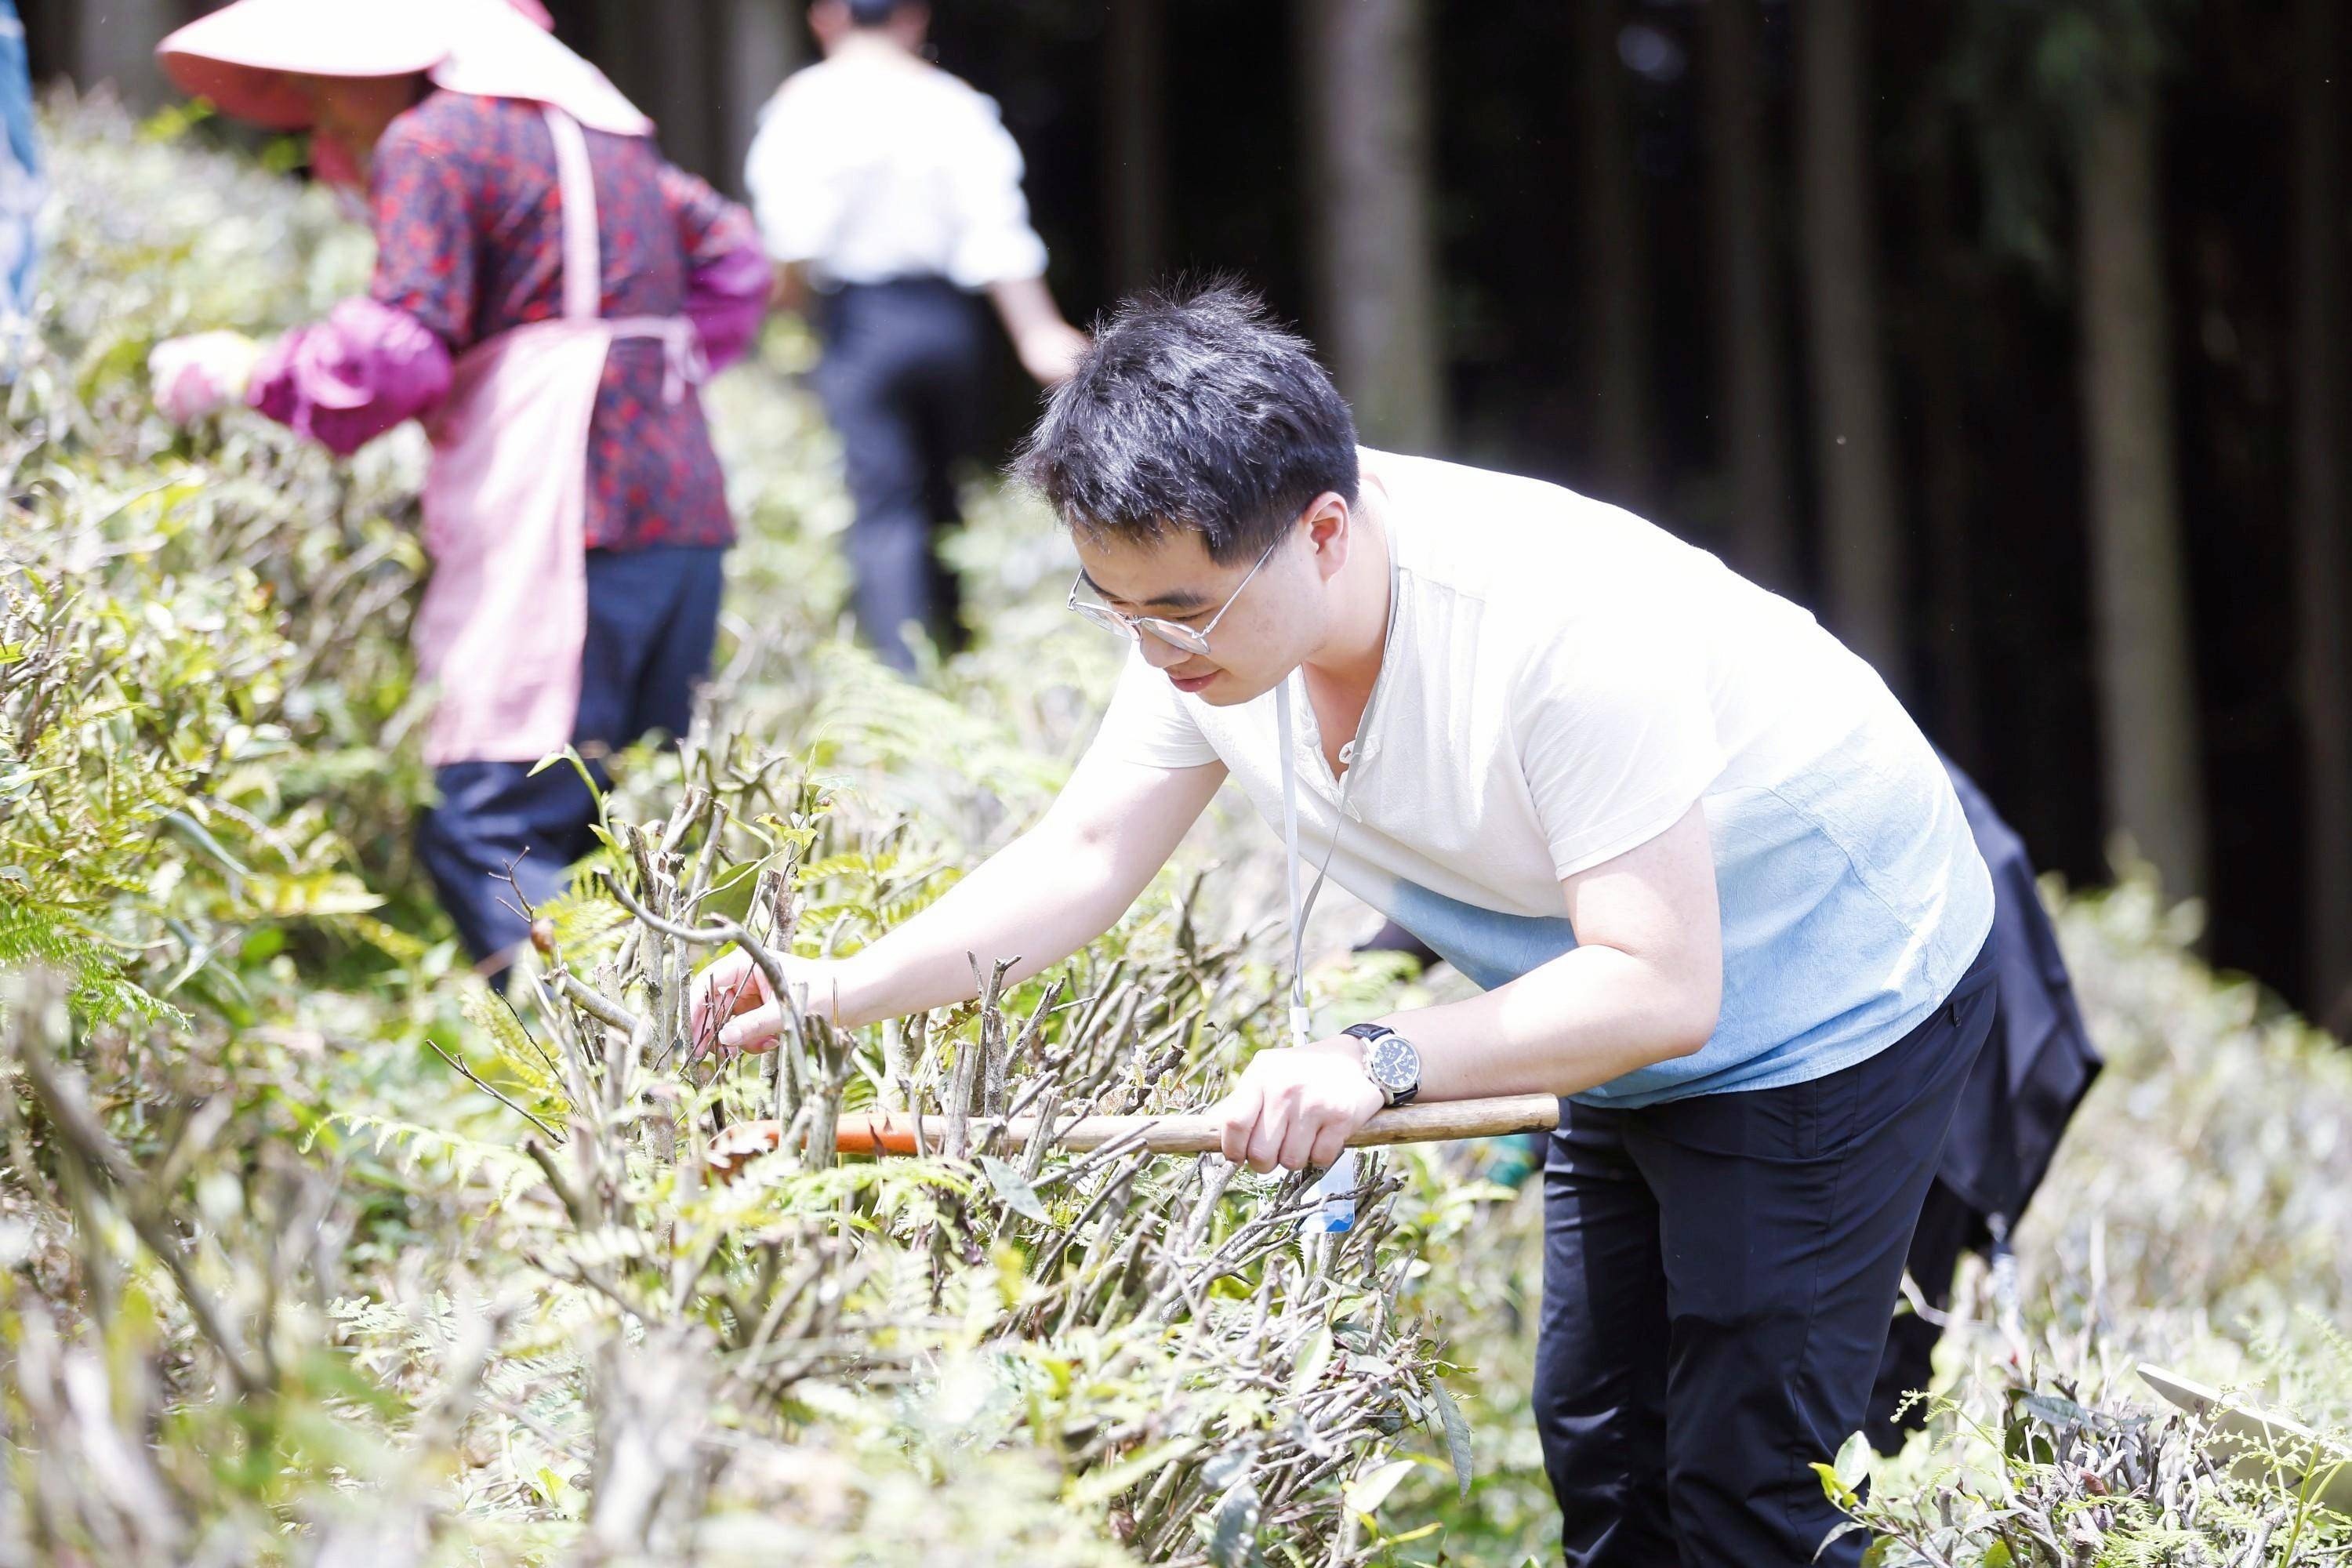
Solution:
<svg viewBox="0 0 2352 1568"><path fill-rule="evenodd" d="M1077 559L1084 569L1080 597L1192 630L1207 630L1216 618L1207 654L1164 642L1148 628L1138 632L1138 644L1178 691L1218 708L1272 691L1322 639L1324 574L1305 527L1284 536L1256 576L1249 576L1256 555L1218 564L1190 529L1162 543L1077 536Z"/></svg>

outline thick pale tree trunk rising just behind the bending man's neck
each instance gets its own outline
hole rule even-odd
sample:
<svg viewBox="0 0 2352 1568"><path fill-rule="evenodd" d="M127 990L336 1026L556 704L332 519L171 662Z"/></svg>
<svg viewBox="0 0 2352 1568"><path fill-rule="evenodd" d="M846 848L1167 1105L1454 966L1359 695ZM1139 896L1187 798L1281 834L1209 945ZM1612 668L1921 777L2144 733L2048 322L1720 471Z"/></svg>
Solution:
<svg viewBox="0 0 2352 1568"><path fill-rule="evenodd" d="M1444 440L1421 0L1303 0L1317 334L1364 440Z"/></svg>

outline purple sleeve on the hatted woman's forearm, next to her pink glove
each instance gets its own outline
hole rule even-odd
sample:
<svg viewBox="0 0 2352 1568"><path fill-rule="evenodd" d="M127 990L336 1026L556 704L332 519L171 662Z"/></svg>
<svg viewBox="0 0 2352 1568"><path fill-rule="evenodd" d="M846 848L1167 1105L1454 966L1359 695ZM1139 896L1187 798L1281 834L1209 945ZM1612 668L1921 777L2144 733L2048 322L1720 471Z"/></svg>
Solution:
<svg viewBox="0 0 2352 1568"><path fill-rule="evenodd" d="M245 400L348 456L449 393L449 350L407 310L346 299L263 350Z"/></svg>

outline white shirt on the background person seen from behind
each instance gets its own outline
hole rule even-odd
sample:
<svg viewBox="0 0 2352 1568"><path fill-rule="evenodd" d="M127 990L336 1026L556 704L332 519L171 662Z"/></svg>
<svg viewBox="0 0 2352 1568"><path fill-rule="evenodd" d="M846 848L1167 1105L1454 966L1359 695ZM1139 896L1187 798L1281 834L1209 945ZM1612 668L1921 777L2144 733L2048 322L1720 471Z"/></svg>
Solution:
<svg viewBox="0 0 2352 1568"><path fill-rule="evenodd" d="M995 99L917 59L847 52L786 78L743 167L760 237L818 287L1044 275Z"/></svg>

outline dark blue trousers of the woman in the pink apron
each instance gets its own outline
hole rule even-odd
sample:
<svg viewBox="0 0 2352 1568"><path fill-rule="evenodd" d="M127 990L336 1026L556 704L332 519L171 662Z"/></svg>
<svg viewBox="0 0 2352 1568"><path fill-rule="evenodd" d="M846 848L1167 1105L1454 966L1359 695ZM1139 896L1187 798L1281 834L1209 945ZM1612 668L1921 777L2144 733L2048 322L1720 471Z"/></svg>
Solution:
<svg viewBox="0 0 2352 1568"><path fill-rule="evenodd" d="M694 689L710 672L724 555L689 545L588 552L572 743L597 788L607 783L604 755L652 729L684 733ZM440 804L416 823L416 856L480 961L529 936L517 889L532 905L562 893L572 863L595 846L595 797L567 762L539 776L529 762L449 762L433 783Z"/></svg>

